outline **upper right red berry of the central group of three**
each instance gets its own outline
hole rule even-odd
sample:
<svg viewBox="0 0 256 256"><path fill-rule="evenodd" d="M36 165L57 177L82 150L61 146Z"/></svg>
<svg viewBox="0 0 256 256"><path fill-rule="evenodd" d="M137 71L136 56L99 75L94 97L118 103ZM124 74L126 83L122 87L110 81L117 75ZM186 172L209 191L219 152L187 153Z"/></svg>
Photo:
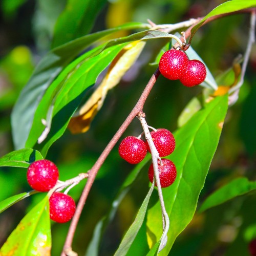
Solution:
<svg viewBox="0 0 256 256"><path fill-rule="evenodd" d="M150 133L160 157L165 157L173 153L175 149L175 139L173 134L166 129L157 129ZM147 143L147 150L150 146Z"/></svg>

